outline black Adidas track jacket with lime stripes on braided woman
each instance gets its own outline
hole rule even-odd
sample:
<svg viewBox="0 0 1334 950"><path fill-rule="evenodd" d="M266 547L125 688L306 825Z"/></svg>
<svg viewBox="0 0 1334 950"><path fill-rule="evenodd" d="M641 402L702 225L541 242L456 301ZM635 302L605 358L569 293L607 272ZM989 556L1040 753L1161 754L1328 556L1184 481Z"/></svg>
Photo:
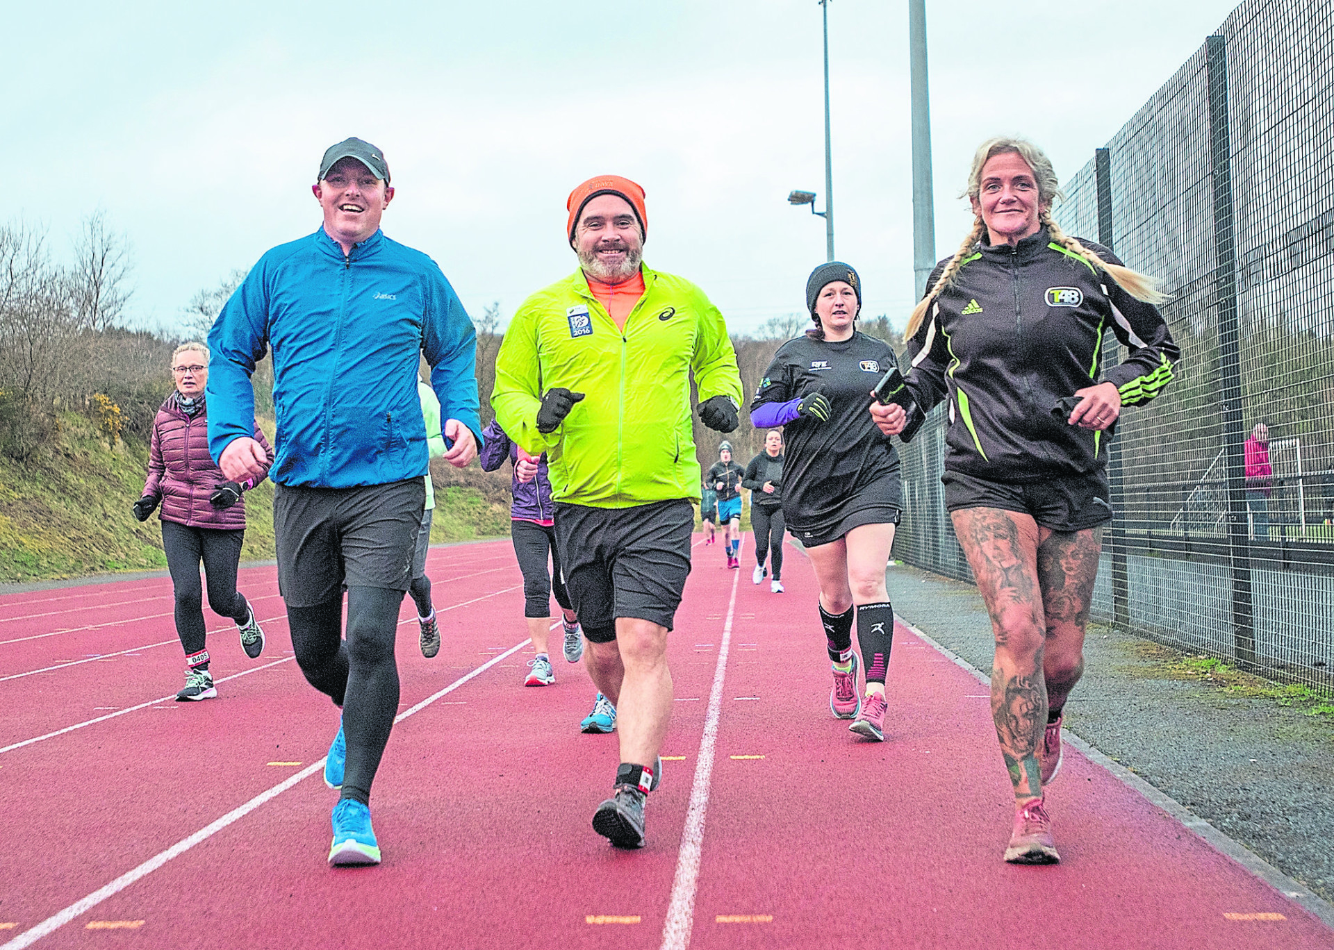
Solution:
<svg viewBox="0 0 1334 950"><path fill-rule="evenodd" d="M1121 263L1099 244L1081 244ZM947 263L935 266L927 287ZM1130 355L1103 374L1109 328ZM1103 438L1054 416L1058 399L1110 382L1122 406L1146 403L1171 382L1181 351L1157 307L1042 228L1014 247L975 247L908 340L908 355L907 386L920 410L950 400L946 470L1026 483L1106 466L1114 430Z"/></svg>

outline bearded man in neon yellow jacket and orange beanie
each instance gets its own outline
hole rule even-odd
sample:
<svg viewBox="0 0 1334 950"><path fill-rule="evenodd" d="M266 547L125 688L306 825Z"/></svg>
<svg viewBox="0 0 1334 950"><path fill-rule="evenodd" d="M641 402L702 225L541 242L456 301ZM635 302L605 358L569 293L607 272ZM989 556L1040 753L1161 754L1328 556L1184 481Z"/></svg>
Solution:
<svg viewBox="0 0 1334 950"><path fill-rule="evenodd" d="M644 795L671 717L667 634L690 574L699 418L736 428L742 382L722 314L682 278L643 267L644 191L603 175L566 204L579 270L528 298L496 356L491 407L510 438L547 452L566 586L599 690L584 731L620 734L612 797L594 829L644 843Z"/></svg>

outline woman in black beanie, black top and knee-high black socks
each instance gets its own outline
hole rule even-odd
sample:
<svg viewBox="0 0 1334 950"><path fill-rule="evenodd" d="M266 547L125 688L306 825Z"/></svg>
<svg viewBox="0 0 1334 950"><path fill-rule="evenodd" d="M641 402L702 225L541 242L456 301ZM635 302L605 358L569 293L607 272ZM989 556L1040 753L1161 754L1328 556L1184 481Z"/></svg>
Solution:
<svg viewBox="0 0 1334 950"><path fill-rule="evenodd" d="M884 676L894 607L884 568L903 506L899 458L870 414L871 388L894 360L883 342L856 332L862 282L830 262L806 283L815 330L779 347L751 403L751 423L786 426L783 514L820 587L834 687L830 711L851 731L884 739ZM852 615L866 668L856 688Z"/></svg>

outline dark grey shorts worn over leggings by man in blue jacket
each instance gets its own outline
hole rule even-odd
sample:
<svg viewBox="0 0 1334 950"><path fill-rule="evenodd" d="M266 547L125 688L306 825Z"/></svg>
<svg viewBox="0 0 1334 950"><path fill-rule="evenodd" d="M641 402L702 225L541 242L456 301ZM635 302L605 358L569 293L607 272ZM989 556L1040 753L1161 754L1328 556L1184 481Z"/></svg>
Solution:
<svg viewBox="0 0 1334 950"><path fill-rule="evenodd" d="M273 488L277 590L288 607L313 607L346 587L406 591L426 480L356 488Z"/></svg>

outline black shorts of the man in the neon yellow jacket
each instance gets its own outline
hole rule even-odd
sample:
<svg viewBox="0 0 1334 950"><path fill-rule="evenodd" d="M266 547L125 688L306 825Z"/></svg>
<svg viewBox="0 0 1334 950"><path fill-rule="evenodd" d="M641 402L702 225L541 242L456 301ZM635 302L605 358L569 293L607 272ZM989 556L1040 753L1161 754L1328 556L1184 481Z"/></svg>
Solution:
<svg viewBox="0 0 1334 950"><path fill-rule="evenodd" d="M632 508L556 502L556 543L584 636L616 639L616 619L672 628L686 578L695 506L680 498Z"/></svg>

